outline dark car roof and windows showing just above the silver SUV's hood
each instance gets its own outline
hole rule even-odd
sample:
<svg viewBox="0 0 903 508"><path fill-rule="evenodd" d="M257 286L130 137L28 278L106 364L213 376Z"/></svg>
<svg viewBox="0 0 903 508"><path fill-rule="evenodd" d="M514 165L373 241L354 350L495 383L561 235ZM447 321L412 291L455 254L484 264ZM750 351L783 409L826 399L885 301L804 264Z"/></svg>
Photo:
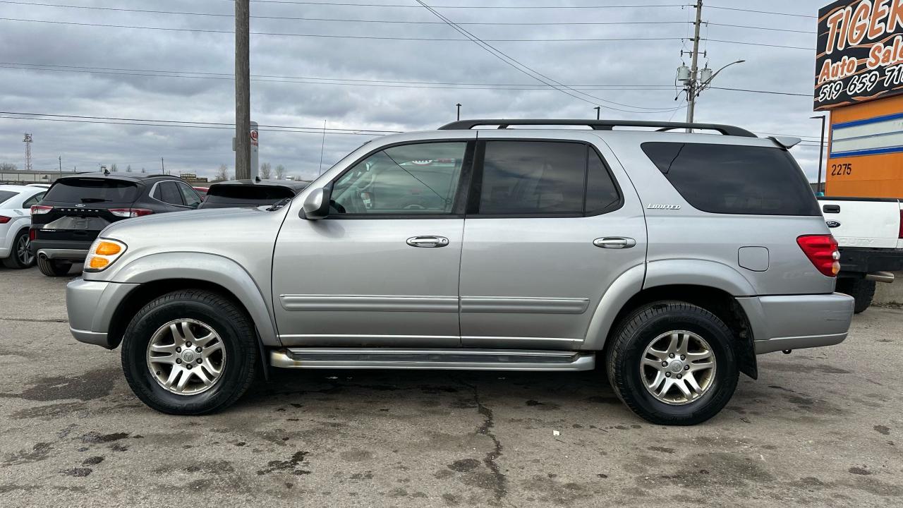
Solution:
<svg viewBox="0 0 903 508"><path fill-rule="evenodd" d="M233 180L210 185L198 208L237 208L274 205L291 199L310 182L299 180Z"/></svg>

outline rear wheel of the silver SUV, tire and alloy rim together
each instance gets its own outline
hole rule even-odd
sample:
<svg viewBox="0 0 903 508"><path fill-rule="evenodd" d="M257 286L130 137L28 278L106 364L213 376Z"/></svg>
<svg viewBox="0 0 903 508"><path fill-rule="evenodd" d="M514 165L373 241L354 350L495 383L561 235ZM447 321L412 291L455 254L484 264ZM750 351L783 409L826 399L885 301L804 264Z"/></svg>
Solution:
<svg viewBox="0 0 903 508"><path fill-rule="evenodd" d="M731 400L739 371L731 330L684 302L641 306L617 327L607 356L611 387L643 419L694 425Z"/></svg>

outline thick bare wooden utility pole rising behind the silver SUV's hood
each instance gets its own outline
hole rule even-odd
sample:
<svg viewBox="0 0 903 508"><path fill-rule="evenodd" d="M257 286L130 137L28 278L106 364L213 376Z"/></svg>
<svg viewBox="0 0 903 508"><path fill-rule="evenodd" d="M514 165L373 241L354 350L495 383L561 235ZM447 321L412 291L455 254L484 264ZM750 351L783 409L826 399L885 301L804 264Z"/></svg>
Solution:
<svg viewBox="0 0 903 508"><path fill-rule="evenodd" d="M251 177L250 2L235 0L235 179Z"/></svg>

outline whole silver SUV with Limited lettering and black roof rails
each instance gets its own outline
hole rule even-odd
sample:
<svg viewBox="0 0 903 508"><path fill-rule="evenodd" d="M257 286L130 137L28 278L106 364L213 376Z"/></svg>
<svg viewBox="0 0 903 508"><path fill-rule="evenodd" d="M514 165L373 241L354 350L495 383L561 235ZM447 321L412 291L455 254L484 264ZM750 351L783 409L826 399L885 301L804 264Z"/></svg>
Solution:
<svg viewBox="0 0 903 508"><path fill-rule="evenodd" d="M757 354L847 335L793 143L549 119L381 137L278 209L111 224L69 284L71 332L122 343L132 390L173 414L226 408L271 367L598 361L640 417L702 422Z"/></svg>

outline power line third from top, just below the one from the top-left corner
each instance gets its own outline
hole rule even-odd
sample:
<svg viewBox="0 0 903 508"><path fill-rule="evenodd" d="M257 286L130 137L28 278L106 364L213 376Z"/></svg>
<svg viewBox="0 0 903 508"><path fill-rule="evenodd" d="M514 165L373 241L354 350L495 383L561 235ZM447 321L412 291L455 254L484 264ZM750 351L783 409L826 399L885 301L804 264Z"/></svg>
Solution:
<svg viewBox="0 0 903 508"><path fill-rule="evenodd" d="M100 23L76 23L71 21L51 21L39 19L7 18L0 17L0 21L15 21L24 23L48 23L68 24L73 26L99 26L103 28L132 28L138 30L163 30L168 32L197 32L197 33L234 33L231 30L212 30L202 28L171 28L164 26L140 26L135 24L100 24ZM370 39L383 41L442 41L442 42L467 42L467 39L446 39L435 37L382 37L375 35L337 35L325 33L275 33L275 32L251 32L251 35L276 35L285 37L326 37L331 39ZM610 42L610 41L679 41L680 37L598 37L598 38L565 38L565 39L486 39L489 42Z"/></svg>

